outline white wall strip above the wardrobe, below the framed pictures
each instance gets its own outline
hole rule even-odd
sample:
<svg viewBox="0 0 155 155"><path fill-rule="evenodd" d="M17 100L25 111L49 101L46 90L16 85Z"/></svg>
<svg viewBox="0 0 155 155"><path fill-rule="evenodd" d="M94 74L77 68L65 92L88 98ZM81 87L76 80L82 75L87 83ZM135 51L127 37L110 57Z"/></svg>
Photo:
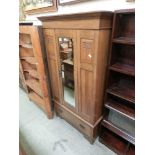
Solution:
<svg viewBox="0 0 155 155"><path fill-rule="evenodd" d="M90 12L90 11L114 11L117 9L128 9L135 8L134 2L126 2L126 0L93 0L87 2L81 2L72 5L66 6L58 6L57 12L44 13L44 14L36 14L36 15L28 15L26 20L33 21L34 24L40 25L41 22L37 20L36 17L39 16L53 16L53 15L61 15L61 14L72 14L79 12Z"/></svg>

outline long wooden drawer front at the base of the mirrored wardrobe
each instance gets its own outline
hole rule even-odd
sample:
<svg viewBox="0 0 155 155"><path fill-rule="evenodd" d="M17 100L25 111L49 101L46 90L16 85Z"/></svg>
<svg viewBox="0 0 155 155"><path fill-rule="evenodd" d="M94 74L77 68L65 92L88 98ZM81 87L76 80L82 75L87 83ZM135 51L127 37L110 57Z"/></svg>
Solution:
<svg viewBox="0 0 155 155"><path fill-rule="evenodd" d="M93 138L93 128L88 126L85 122L77 118L75 115L65 110L61 106L55 104L56 112L62 118L64 118L67 122L73 125L77 130L79 130L84 135Z"/></svg>

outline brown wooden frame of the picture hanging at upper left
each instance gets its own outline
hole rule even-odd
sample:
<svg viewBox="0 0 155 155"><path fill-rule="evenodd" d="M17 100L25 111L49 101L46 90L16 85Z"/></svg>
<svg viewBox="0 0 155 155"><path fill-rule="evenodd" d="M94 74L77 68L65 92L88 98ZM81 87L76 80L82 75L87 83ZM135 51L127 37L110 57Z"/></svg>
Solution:
<svg viewBox="0 0 155 155"><path fill-rule="evenodd" d="M38 8L38 9L32 9L32 10L25 10L26 14L38 14L38 13L46 13L46 12L56 12L58 10L57 8L57 0L53 0L53 6Z"/></svg>

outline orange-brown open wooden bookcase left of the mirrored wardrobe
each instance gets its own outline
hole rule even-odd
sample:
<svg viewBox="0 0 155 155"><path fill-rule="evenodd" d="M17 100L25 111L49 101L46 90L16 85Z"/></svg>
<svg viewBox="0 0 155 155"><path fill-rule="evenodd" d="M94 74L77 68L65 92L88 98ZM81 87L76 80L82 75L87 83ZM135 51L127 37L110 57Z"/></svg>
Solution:
<svg viewBox="0 0 155 155"><path fill-rule="evenodd" d="M48 72L42 28L33 25L19 26L20 75L29 99L52 118L51 91L48 87Z"/></svg>

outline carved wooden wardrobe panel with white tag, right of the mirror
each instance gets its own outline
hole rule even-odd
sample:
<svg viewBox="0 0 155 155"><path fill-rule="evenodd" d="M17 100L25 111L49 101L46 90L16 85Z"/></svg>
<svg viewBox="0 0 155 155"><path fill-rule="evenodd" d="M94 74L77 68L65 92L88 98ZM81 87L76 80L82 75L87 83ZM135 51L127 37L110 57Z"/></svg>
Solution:
<svg viewBox="0 0 155 155"><path fill-rule="evenodd" d="M87 121L93 124L95 115L95 70L98 33L93 30L77 31L78 38L78 89L79 89L79 113Z"/></svg>

